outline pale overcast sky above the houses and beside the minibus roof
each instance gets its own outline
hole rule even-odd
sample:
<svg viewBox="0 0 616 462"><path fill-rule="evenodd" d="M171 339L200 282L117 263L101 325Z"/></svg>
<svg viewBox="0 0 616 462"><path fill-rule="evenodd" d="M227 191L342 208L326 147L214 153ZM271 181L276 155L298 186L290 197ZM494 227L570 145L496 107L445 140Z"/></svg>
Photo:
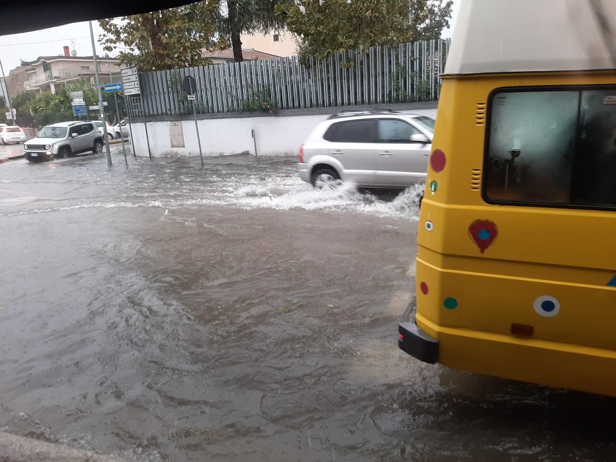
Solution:
<svg viewBox="0 0 616 462"><path fill-rule="evenodd" d="M460 0L453 0L452 26L460 7ZM92 22L95 39L102 33L99 23ZM451 28L450 28L451 29ZM443 31L444 38L451 37L451 30ZM52 27L50 29L0 36L0 60L4 67L4 73L17 67L20 59L33 61L39 56L53 56L63 54L63 46L77 52L79 56L91 56L92 44L90 41L90 29L87 22L78 22L66 26ZM96 41L97 54L103 55L102 46Z"/></svg>

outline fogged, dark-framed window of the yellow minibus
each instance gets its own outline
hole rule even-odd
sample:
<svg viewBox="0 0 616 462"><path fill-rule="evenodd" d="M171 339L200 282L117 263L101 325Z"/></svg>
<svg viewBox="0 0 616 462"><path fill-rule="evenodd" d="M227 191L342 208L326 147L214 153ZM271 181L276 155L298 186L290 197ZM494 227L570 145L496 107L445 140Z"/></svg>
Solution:
<svg viewBox="0 0 616 462"><path fill-rule="evenodd" d="M488 202L616 208L616 87L502 89L488 111Z"/></svg>

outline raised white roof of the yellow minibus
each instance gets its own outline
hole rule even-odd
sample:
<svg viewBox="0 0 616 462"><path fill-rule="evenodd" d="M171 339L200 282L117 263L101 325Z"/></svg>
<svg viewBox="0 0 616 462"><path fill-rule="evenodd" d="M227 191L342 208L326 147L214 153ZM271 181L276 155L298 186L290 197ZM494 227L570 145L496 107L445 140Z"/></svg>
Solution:
<svg viewBox="0 0 616 462"><path fill-rule="evenodd" d="M445 74L616 68L616 0L462 0Z"/></svg>

